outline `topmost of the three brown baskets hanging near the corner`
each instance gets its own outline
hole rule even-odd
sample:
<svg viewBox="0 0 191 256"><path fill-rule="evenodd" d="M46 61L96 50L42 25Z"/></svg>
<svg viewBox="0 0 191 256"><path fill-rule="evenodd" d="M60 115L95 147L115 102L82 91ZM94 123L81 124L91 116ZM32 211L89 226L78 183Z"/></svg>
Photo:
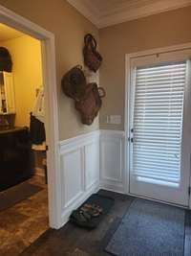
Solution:
<svg viewBox="0 0 191 256"><path fill-rule="evenodd" d="M96 72L102 62L102 57L96 51L96 39L93 35L87 34L84 37L84 63L90 70Z"/></svg>

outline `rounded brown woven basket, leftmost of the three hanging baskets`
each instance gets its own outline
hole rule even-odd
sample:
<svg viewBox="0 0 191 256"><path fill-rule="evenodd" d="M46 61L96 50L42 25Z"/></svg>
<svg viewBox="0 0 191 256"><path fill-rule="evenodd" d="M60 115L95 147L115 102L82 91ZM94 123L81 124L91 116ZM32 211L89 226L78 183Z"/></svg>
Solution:
<svg viewBox="0 0 191 256"><path fill-rule="evenodd" d="M61 81L63 92L74 101L79 101L84 97L86 91L86 78L82 71L82 66L74 66L67 72Z"/></svg>

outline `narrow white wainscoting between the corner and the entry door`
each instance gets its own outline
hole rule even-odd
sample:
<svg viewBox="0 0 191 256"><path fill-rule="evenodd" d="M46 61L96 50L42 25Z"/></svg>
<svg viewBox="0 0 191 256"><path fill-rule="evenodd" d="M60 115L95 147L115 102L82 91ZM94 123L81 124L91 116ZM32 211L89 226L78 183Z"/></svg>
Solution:
<svg viewBox="0 0 191 256"><path fill-rule="evenodd" d="M124 131L100 131L100 188L125 193Z"/></svg>

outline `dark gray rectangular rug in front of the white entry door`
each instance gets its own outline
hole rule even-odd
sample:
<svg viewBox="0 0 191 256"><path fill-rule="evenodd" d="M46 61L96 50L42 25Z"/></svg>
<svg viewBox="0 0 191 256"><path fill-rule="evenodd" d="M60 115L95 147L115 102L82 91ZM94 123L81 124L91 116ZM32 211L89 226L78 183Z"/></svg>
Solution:
<svg viewBox="0 0 191 256"><path fill-rule="evenodd" d="M183 209L138 198L106 251L117 256L183 256L184 218Z"/></svg>

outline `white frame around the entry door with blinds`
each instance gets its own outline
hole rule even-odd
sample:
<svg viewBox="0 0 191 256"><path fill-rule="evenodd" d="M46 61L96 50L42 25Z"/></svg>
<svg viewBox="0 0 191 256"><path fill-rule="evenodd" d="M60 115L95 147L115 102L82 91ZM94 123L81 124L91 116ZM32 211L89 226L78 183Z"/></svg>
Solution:
<svg viewBox="0 0 191 256"><path fill-rule="evenodd" d="M125 193L131 195L130 193L130 159L129 159L129 141L130 138L130 86L131 86L131 58L141 58L150 55L157 55L161 53L170 53L180 50L191 49L191 42L184 44L177 44L162 48L154 48L146 51L139 51L137 53L131 53L125 55L125 109L124 109L124 128L125 128ZM191 151L190 151L190 174L191 174ZM190 178L191 187L191 178ZM140 197L143 198L143 197ZM153 199L155 200L155 199ZM169 203L171 204L171 203ZM179 205L180 206L180 205ZM191 197L189 198L189 209L191 209Z"/></svg>

